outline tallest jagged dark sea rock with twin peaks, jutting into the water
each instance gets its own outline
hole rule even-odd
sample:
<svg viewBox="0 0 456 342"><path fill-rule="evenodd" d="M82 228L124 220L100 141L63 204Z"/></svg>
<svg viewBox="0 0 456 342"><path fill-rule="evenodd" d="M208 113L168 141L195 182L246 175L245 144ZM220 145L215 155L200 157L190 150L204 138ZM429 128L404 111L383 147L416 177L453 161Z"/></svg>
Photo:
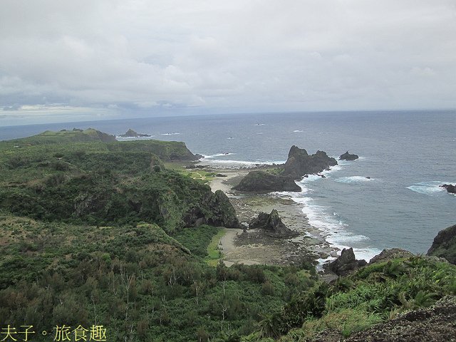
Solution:
<svg viewBox="0 0 456 342"><path fill-rule="evenodd" d="M301 149L293 145L282 175L293 177L296 180L304 175L321 172L334 165L337 165L337 161L328 157L326 152L317 151L314 155L309 155L304 148Z"/></svg>

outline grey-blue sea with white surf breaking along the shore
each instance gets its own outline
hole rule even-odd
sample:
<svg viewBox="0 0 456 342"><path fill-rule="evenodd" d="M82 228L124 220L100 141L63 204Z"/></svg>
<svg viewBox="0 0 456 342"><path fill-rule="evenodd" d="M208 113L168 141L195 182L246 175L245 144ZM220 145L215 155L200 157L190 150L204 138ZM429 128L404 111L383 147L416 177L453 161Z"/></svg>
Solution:
<svg viewBox="0 0 456 342"><path fill-rule="evenodd" d="M324 150L339 162L326 178L309 177L291 196L309 223L357 257L383 248L425 253L440 229L456 224L456 111L269 113L105 120L0 128L0 140L43 130L93 127L119 135L128 128L154 139L184 141L214 165L284 162L291 145ZM366 177L371 177L367 179Z"/></svg>

